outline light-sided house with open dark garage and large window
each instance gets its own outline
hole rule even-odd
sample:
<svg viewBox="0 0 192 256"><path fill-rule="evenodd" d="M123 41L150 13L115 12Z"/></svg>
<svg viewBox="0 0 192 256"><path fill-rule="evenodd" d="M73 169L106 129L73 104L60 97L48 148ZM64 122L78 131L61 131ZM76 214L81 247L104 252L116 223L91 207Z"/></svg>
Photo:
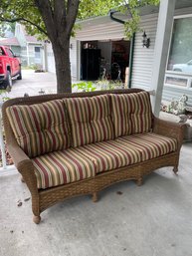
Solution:
<svg viewBox="0 0 192 256"><path fill-rule="evenodd" d="M166 2L166 1L161 1ZM167 1L168 2L168 1ZM173 1L172 1L173 2ZM155 44L157 35L159 8L146 6L140 9L141 20L139 31L135 34L133 44L124 38L124 27L114 22L109 16L96 17L79 22L81 29L77 31L76 38L71 40L71 68L74 80L92 79L92 67L98 74L96 65L105 65L106 73L112 71L112 63L118 63L122 73L124 67L129 67L129 86L132 88L153 89L153 73L155 63ZM116 15L124 20L124 16ZM127 19L127 17L126 17ZM172 18L171 18L172 22ZM169 33L169 54L167 58L166 73L164 78L163 100L178 99L183 94L189 96L188 104L192 105L192 72L173 71L173 65L185 64L192 60L192 1L177 0L172 22L172 36ZM142 35L145 31L150 38L149 48L143 47ZM163 35L162 35L163 37ZM99 49L99 51L97 51ZM160 47L159 47L160 49ZM156 50L158 51L158 49ZM96 53L97 52L97 53ZM164 53L162 52L162 55ZM99 64L93 61L101 57ZM86 57L85 57L86 56ZM90 63L85 63L85 59ZM91 68L91 71L88 70ZM165 68L165 67L164 67ZM85 69L87 73L85 75ZM48 70L54 72L54 56L51 45L48 45ZM88 72L90 73L89 76ZM122 74L122 78L123 78ZM115 77L115 73L114 73ZM95 78L94 78L95 79Z"/></svg>

